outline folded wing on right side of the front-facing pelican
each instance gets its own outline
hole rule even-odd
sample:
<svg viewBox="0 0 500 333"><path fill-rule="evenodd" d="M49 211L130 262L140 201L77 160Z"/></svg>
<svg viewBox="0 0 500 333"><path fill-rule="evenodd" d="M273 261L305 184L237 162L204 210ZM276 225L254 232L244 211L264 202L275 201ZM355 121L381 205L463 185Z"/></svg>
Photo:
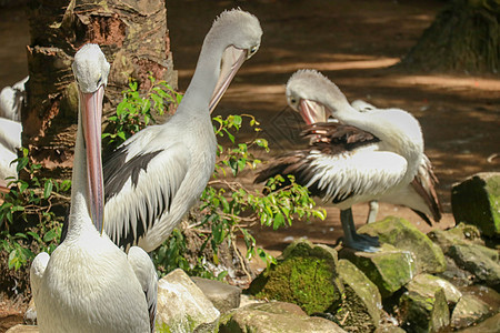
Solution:
<svg viewBox="0 0 500 333"><path fill-rule="evenodd" d="M144 250L132 246L128 254L129 263L136 273L139 283L144 292L146 302L148 303L149 323L151 332L154 332L154 319L157 315L157 291L158 275L154 265Z"/></svg>

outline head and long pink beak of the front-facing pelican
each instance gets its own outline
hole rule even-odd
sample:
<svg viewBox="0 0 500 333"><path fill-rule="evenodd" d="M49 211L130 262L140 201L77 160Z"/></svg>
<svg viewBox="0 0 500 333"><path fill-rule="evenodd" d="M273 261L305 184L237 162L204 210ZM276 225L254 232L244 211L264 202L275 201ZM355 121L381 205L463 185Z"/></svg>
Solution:
<svg viewBox="0 0 500 333"><path fill-rule="evenodd" d="M79 117L86 142L89 214L98 231L102 232L104 186L101 162L101 119L102 99L110 65L97 44L86 44L74 56L72 69L78 83Z"/></svg>

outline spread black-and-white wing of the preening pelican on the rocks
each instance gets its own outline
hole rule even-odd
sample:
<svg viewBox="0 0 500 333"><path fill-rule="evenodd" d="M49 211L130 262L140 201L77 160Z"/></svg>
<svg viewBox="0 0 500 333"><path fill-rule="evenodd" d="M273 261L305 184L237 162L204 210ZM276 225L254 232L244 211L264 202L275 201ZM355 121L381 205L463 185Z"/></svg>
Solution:
<svg viewBox="0 0 500 333"><path fill-rule="evenodd" d="M371 149L327 154L319 150L296 151L278 158L260 171L256 182L277 174L292 174L323 201L340 203L353 195L376 195L404 176L407 160L396 153Z"/></svg>

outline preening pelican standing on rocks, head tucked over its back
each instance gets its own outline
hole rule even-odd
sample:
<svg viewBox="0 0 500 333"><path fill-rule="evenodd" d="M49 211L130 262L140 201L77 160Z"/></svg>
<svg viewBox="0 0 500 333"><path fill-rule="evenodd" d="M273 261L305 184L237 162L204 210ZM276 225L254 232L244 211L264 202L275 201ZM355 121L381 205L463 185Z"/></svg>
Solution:
<svg viewBox="0 0 500 333"><path fill-rule="evenodd" d="M304 135L311 147L276 159L256 182L293 174L313 195L340 209L344 243L354 250L374 252L379 246L377 239L356 232L351 211L356 203L379 200L440 219L436 178L423 154L420 124L410 113L400 109L360 112L333 82L313 70L300 70L290 78L287 100L310 125ZM317 123L328 115L339 122Z"/></svg>

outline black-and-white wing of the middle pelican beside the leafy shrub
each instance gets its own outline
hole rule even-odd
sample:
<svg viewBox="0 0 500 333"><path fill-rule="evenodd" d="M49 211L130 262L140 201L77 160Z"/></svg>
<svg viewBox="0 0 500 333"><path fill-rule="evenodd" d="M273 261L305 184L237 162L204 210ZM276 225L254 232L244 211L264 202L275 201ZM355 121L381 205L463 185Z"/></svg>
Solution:
<svg viewBox="0 0 500 333"><path fill-rule="evenodd" d="M126 142L127 143L127 142ZM164 214L179 190L190 163L179 142L140 151L120 147L104 162L104 229L120 248L138 243Z"/></svg>

